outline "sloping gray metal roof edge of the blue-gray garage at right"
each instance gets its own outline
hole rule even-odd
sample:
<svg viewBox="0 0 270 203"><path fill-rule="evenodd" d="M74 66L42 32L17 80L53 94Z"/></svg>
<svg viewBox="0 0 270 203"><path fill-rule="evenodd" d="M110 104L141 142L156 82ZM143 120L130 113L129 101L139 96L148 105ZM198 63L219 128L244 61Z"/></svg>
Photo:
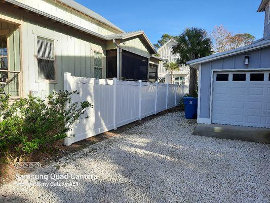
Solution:
<svg viewBox="0 0 270 203"><path fill-rule="evenodd" d="M267 46L270 46L270 39L262 40L262 41L259 41L257 43L254 43L254 44L251 44L251 45L248 45L248 46L239 47L237 49L232 49L232 50L229 50L229 51L220 52L220 53L217 53L217 54L213 54L213 55L210 55L210 56L198 58L198 59L195 59L195 60L190 60L190 61L187 61L186 63L189 64L189 65L205 63L205 62L208 62L208 61L228 57L228 56L231 56L231 55L236 55L236 54L239 54L239 53L243 53L243 52L247 52L247 51L251 51L251 50L254 50L254 49L259 49L259 48L267 47Z"/></svg>

